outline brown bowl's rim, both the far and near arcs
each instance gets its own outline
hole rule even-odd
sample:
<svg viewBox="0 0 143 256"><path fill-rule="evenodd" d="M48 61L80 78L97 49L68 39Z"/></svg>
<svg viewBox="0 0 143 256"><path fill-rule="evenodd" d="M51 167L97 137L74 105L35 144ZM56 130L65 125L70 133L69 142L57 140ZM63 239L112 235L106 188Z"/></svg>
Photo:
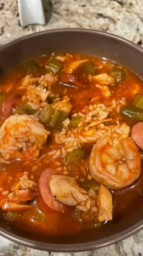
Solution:
<svg viewBox="0 0 143 256"><path fill-rule="evenodd" d="M39 35L44 34L55 34L60 32L79 32L79 33L85 33L85 34L96 34L96 35L104 35L105 37L114 38L115 40L121 41L122 43L128 44L136 51L141 52L143 54L143 48L139 46L136 43L133 43L132 41L129 41L125 38L122 38L118 35L111 34L108 32L102 32L100 30L94 30L94 29L84 29L84 28L64 28L64 29L48 29L40 32L35 32L33 34L25 35L24 37L16 38L13 41L10 41L0 47L0 52L4 51L4 49L9 48L10 46L13 46L13 44L18 43L19 41L27 40L28 38L33 38ZM131 227L128 227L126 230L118 232L114 235L110 235L107 238L102 238L99 241L91 241L91 242L85 242L85 243L78 243L78 244L59 244L59 243L45 243L45 242L38 242L33 241L29 238L24 238L20 235L13 234L12 232L5 230L4 228L0 228L0 235L2 235L4 238L7 238L8 240L13 241L14 243L21 244L22 246L32 247L33 249L40 249L42 251L52 251L52 252L82 252L82 251L91 251L95 249L99 249L101 247L109 246L113 243L117 243L121 240L124 240L125 238L128 238L129 236L135 234L136 232L139 232L143 228L143 219L141 221L138 221L136 224L133 224Z"/></svg>

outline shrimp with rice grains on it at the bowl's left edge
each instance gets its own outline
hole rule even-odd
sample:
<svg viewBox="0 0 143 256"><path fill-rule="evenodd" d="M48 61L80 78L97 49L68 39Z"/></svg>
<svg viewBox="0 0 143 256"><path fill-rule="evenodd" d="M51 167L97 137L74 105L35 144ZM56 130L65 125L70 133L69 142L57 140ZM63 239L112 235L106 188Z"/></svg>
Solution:
<svg viewBox="0 0 143 256"><path fill-rule="evenodd" d="M5 160L39 157L39 149L50 134L33 115L13 115L0 129L0 152Z"/></svg>

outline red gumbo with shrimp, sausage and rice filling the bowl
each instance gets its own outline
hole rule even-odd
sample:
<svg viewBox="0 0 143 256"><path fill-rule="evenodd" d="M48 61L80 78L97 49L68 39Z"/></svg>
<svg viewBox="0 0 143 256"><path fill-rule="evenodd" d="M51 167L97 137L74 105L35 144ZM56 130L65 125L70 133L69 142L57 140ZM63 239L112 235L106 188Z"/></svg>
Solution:
<svg viewBox="0 0 143 256"><path fill-rule="evenodd" d="M102 229L142 205L143 82L53 53L0 80L0 215L42 235Z"/></svg>

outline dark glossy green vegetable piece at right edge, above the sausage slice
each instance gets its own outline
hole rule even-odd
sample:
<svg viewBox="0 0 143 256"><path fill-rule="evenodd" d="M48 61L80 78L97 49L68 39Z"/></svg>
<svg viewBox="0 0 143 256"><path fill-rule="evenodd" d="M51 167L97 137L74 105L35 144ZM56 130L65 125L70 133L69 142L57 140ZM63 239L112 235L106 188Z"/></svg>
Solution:
<svg viewBox="0 0 143 256"><path fill-rule="evenodd" d="M136 121L143 121L143 110L133 105L121 108L121 115L127 116Z"/></svg>

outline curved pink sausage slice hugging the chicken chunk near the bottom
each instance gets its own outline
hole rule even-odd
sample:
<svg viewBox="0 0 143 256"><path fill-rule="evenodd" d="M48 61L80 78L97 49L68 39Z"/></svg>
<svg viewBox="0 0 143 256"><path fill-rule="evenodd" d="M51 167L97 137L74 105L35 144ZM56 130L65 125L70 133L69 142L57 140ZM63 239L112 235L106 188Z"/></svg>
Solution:
<svg viewBox="0 0 143 256"><path fill-rule="evenodd" d="M55 174L55 172L52 168L47 168L42 171L41 176L39 177L39 193L48 207L58 212L65 212L67 207L61 204L61 202L57 201L50 191L50 177L53 174Z"/></svg>

